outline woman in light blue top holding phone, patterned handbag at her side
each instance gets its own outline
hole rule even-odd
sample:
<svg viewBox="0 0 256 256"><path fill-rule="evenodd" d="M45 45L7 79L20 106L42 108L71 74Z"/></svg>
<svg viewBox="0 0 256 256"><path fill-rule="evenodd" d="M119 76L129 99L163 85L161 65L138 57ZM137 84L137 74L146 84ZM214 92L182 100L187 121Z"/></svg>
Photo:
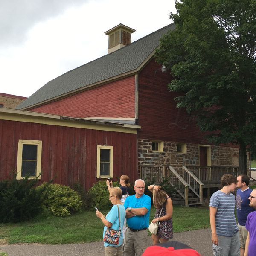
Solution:
<svg viewBox="0 0 256 256"><path fill-rule="evenodd" d="M105 230L111 227L113 230L118 230L119 225L121 227L121 235L119 239L118 245L108 244L104 242L105 248L105 256L121 256L122 255L122 244L123 244L123 225L125 221L125 207L121 204L122 198L122 190L119 187L111 187L109 189L109 200L113 204L113 207L108 212L106 216L104 216L101 212L96 211L96 215L100 218L103 222L104 230L103 230L103 237L105 235ZM119 208L119 211L118 211ZM119 223L119 216L120 216L120 223Z"/></svg>

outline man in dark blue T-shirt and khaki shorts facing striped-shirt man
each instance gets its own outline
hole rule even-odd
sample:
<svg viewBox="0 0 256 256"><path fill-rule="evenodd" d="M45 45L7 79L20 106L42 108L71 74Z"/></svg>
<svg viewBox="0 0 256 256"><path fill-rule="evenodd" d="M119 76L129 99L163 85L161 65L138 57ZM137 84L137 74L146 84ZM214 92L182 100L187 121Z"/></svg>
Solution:
<svg viewBox="0 0 256 256"><path fill-rule="evenodd" d="M241 174L237 177L237 186L239 189L236 192L236 213L238 220L238 230L240 239L240 256L244 256L245 242L248 236L248 230L245 228L247 216L254 209L250 207L249 196L252 190L248 187L250 178Z"/></svg>

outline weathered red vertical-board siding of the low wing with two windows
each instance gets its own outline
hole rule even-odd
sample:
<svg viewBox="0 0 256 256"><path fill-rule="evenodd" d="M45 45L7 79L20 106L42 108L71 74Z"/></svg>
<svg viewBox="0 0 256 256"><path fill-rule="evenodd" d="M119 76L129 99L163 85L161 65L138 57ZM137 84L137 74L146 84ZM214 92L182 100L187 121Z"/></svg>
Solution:
<svg viewBox="0 0 256 256"><path fill-rule="evenodd" d="M18 140L41 140L41 182L89 189L96 183L97 145L113 146L113 180L137 178L136 134L0 120L0 180L17 168Z"/></svg>

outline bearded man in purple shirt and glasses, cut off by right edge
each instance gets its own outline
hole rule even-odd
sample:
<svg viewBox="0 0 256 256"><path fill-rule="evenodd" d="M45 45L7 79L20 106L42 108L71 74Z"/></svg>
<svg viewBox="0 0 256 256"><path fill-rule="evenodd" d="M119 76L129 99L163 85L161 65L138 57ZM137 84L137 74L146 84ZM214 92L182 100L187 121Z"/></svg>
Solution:
<svg viewBox="0 0 256 256"><path fill-rule="evenodd" d="M256 189L253 189L250 196L250 207L256 209ZM251 212L245 224L248 230L248 236L245 244L244 256L256 256L256 211Z"/></svg>

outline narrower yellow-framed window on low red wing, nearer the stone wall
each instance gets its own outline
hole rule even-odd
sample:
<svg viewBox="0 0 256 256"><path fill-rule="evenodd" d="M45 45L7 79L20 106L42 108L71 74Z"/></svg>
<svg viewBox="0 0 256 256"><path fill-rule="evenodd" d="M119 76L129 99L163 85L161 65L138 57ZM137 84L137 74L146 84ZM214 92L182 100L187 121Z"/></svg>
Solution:
<svg viewBox="0 0 256 256"><path fill-rule="evenodd" d="M97 146L97 178L113 177L113 146Z"/></svg>

